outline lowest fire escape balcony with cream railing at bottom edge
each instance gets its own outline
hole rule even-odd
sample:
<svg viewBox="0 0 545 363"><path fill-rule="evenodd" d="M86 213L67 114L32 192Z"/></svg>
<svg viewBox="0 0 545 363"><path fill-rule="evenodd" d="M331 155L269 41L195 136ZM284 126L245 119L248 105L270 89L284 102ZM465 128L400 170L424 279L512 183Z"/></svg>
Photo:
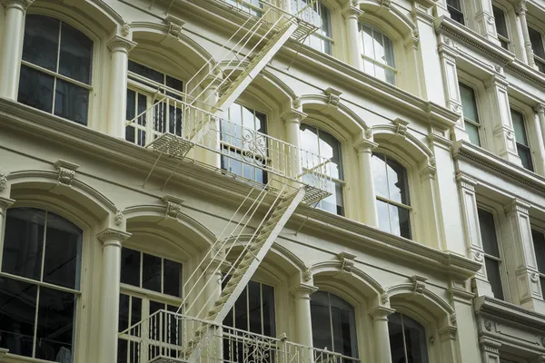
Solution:
<svg viewBox="0 0 545 363"><path fill-rule="evenodd" d="M203 333L200 334L199 332ZM194 341L202 336L199 351ZM252 363L357 363L327 349L304 347L287 338L271 338L250 331L217 325L180 313L158 310L148 319L119 333L128 342L128 363L252 362Z"/></svg>

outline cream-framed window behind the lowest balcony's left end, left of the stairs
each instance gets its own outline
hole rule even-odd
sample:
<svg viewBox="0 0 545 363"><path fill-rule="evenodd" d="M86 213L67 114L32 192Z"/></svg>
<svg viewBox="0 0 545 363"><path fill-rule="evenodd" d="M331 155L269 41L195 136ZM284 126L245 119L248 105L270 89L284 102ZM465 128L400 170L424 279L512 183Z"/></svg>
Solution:
<svg viewBox="0 0 545 363"><path fill-rule="evenodd" d="M154 291L154 292L151 292ZM118 341L117 361L119 363L136 362L141 353L138 340L142 333L149 334L154 340L173 343L180 338L180 322L174 317L166 326L168 333L162 332L160 324L144 321L139 329L129 329L134 324L149 318L160 309L177 311L182 304L182 264L163 259L139 250L123 248L121 250L121 294L119 297L119 332L123 334ZM158 338L160 337L160 338ZM152 344L154 345L154 344ZM175 348L163 348L171 356ZM149 359L158 354L158 348L149 349ZM164 353L164 351L163 351Z"/></svg>

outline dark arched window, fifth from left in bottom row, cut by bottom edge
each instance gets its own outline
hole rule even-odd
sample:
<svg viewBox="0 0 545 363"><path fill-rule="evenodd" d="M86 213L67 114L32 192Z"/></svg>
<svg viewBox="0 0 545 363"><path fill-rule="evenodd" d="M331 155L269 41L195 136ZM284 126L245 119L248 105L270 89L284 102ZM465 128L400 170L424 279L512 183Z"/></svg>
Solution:
<svg viewBox="0 0 545 363"><path fill-rule="evenodd" d="M426 330L415 319L398 312L388 317L391 363L428 363Z"/></svg>

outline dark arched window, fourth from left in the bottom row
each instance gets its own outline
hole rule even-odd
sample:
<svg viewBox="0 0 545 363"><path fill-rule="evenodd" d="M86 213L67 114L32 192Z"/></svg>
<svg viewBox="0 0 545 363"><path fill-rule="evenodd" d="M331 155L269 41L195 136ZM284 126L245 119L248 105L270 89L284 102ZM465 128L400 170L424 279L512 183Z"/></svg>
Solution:
<svg viewBox="0 0 545 363"><path fill-rule="evenodd" d="M352 305L330 292L317 291L311 296L311 318L314 348L327 348L345 357L358 358L356 319Z"/></svg>

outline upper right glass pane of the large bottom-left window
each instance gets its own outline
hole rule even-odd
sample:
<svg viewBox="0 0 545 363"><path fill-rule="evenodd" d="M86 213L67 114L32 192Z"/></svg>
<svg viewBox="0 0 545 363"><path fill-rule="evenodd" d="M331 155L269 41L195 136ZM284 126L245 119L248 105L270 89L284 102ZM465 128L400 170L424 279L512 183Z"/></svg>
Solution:
<svg viewBox="0 0 545 363"><path fill-rule="evenodd" d="M82 231L49 212L45 235L44 281L79 289Z"/></svg>

